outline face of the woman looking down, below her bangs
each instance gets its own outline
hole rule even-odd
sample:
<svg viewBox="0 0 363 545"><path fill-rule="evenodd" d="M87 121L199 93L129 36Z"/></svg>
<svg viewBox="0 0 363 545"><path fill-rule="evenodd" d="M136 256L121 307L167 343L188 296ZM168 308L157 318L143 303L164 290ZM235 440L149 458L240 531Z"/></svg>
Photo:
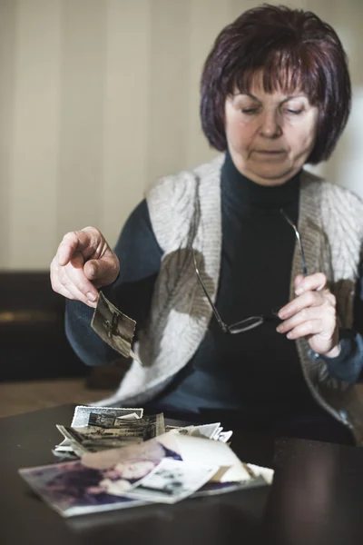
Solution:
<svg viewBox="0 0 363 545"><path fill-rule="evenodd" d="M233 163L250 180L280 185L298 173L314 147L318 108L299 91L267 94L261 76L250 94L225 104L225 130Z"/></svg>

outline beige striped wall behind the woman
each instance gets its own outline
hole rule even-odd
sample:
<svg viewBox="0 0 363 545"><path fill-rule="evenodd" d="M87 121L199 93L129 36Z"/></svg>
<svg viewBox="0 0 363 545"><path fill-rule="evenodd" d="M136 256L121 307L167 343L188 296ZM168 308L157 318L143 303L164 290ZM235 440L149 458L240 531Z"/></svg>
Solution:
<svg viewBox="0 0 363 545"><path fill-rule="evenodd" d="M0 0L0 268L44 269L69 230L110 243L147 184L213 153L201 65L249 0ZM275 4L280 4L276 2ZM289 2L334 25L355 105L319 168L363 196L362 0Z"/></svg>

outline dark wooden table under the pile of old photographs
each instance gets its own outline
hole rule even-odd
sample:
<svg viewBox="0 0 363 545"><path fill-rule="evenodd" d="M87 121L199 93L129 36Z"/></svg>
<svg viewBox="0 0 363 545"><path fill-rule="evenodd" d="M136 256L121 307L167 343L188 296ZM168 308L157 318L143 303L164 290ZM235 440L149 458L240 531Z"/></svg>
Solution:
<svg viewBox="0 0 363 545"><path fill-rule="evenodd" d="M274 467L271 487L65 520L29 490L21 467L54 462L56 423L74 406L0 419L1 545L351 545L363 543L363 450L235 431L242 461Z"/></svg>

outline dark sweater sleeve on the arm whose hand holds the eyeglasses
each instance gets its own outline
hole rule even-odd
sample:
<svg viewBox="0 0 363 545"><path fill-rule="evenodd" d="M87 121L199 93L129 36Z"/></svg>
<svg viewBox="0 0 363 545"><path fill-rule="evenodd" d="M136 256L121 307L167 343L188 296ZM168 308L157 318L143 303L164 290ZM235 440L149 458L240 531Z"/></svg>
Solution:
<svg viewBox="0 0 363 545"><path fill-rule="evenodd" d="M360 272L363 267L360 266ZM331 377L338 381L355 383L361 380L363 374L363 274L356 286L354 300L354 323L353 329L341 330L340 353L336 358L320 356L327 363L328 372Z"/></svg>

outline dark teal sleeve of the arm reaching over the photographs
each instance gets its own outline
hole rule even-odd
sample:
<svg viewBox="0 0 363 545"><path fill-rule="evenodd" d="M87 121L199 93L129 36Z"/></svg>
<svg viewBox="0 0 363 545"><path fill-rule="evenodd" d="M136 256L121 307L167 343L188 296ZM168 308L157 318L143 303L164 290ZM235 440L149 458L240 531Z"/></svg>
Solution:
<svg viewBox="0 0 363 545"><path fill-rule="evenodd" d="M105 296L117 308L136 321L136 338L149 315L152 292L160 271L162 250L157 243L143 200L123 226L114 252L121 272L113 284L103 288ZM65 332L74 352L87 365L113 362L118 352L102 341L91 328L93 309L83 302L66 302Z"/></svg>

